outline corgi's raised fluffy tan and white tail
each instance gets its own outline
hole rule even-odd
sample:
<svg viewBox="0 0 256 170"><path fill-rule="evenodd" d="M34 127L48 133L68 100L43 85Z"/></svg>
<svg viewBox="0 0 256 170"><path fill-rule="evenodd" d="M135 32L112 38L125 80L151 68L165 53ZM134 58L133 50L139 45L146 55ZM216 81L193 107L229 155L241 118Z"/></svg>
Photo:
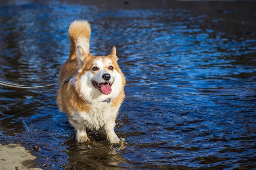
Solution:
<svg viewBox="0 0 256 170"><path fill-rule="evenodd" d="M86 54L89 53L89 39L91 35L90 24L86 20L73 21L68 29L68 37L70 39L70 55L69 59L76 59L76 47L80 45Z"/></svg>

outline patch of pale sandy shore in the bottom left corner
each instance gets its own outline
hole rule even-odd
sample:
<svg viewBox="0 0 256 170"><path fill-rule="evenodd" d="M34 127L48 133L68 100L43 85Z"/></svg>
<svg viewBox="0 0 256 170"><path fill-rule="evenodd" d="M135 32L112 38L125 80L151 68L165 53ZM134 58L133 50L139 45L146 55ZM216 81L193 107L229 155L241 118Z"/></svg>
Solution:
<svg viewBox="0 0 256 170"><path fill-rule="evenodd" d="M33 156L19 144L0 144L0 169L2 170L41 170L40 168L31 168L36 162Z"/></svg>

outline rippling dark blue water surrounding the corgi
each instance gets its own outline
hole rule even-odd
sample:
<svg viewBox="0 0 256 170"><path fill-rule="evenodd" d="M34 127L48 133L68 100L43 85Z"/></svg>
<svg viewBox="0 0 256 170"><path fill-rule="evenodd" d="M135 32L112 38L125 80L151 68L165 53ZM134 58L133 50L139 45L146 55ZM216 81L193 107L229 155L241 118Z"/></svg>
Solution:
<svg viewBox="0 0 256 170"><path fill-rule="evenodd" d="M132 2L0 3L1 80L57 82L75 19L91 23L92 54L116 46L127 80L115 129L124 146L100 132L76 143L58 85L0 86L1 142L40 146L45 169L256 168L255 2Z"/></svg>

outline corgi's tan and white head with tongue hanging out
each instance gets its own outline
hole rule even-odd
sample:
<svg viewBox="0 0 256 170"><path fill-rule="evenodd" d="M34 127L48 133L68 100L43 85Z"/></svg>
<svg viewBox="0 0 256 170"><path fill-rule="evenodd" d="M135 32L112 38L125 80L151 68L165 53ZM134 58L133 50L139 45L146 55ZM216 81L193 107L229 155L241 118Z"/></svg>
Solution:
<svg viewBox="0 0 256 170"><path fill-rule="evenodd" d="M86 54L82 47L76 49L78 76L76 86L84 98L116 98L124 88L122 74L116 56L116 47L113 47L107 56L93 56Z"/></svg>

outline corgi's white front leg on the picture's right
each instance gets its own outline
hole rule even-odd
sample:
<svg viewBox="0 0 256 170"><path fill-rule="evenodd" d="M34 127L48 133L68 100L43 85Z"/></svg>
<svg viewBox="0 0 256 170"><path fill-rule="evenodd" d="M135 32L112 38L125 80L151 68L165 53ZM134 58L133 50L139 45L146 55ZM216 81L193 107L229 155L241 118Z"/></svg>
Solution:
<svg viewBox="0 0 256 170"><path fill-rule="evenodd" d="M115 126L114 118L111 119L110 121L108 121L104 126L109 143L119 143L120 142L120 139L117 137L117 135L114 131L114 126Z"/></svg>

